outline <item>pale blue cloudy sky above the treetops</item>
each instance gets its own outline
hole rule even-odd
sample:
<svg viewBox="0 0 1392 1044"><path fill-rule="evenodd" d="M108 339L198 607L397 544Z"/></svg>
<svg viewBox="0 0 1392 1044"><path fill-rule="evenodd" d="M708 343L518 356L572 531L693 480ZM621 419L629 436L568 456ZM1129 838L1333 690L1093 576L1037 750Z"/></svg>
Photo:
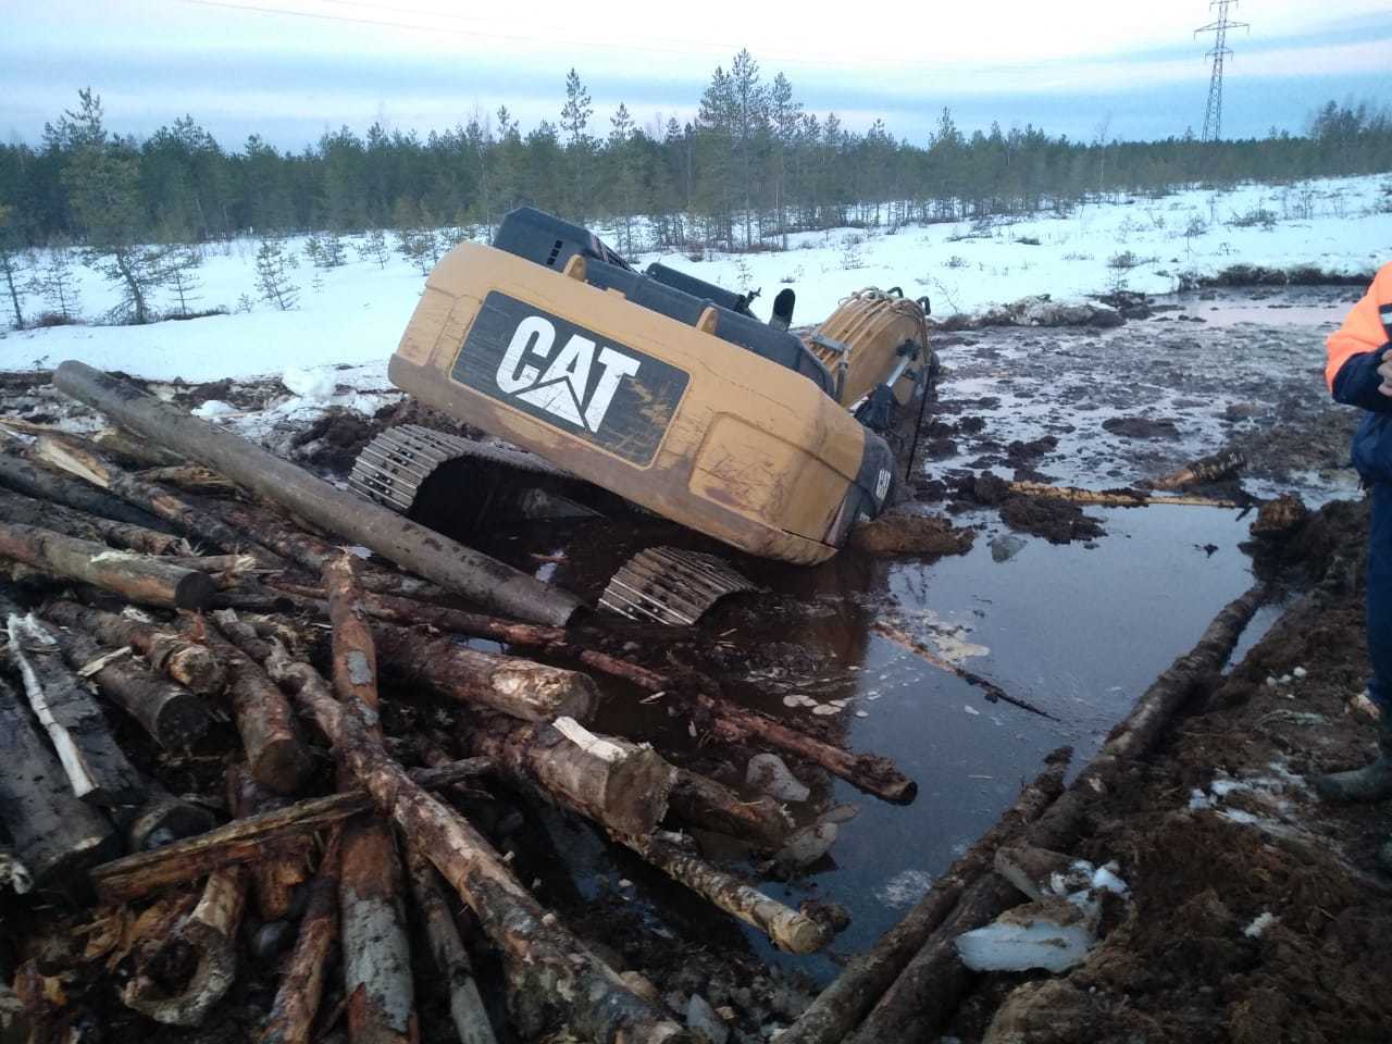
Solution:
<svg viewBox="0 0 1392 1044"><path fill-rule="evenodd" d="M1244 0L1224 131L1299 131L1335 97L1392 103L1389 0ZM507 104L555 120L574 65L604 134L625 102L650 125L695 114L715 65L749 47L818 113L883 117L924 141L942 106L970 131L998 120L1091 139L1203 125L1207 0L731 3L606 0L0 0L0 134L36 142L90 85L113 129L185 113L224 145L260 134L301 149L373 120L422 134Z"/></svg>

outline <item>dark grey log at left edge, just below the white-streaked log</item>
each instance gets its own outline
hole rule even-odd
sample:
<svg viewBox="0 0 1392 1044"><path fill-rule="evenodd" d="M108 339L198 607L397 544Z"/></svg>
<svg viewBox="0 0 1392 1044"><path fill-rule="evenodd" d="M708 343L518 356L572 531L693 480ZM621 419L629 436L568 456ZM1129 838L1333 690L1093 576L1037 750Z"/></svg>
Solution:
<svg viewBox="0 0 1392 1044"><path fill-rule="evenodd" d="M67 774L39 738L19 696L0 678L0 824L35 888L65 888L121 842L107 818L72 795Z"/></svg>

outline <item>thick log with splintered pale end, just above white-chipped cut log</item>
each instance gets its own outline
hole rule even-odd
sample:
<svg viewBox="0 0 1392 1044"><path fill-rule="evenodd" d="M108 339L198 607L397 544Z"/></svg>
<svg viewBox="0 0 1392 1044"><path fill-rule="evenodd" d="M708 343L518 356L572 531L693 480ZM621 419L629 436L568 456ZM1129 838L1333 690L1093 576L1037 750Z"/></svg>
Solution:
<svg viewBox="0 0 1392 1044"><path fill-rule="evenodd" d="M587 721L599 689L587 675L532 660L480 653L444 635L379 624L381 661L394 674L459 703L523 721Z"/></svg>

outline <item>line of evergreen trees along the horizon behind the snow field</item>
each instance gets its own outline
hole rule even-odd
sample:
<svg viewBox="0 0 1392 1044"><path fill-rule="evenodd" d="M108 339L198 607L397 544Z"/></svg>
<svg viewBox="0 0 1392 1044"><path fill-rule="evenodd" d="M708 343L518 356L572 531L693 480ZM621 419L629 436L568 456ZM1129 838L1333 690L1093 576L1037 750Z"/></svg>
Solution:
<svg viewBox="0 0 1392 1044"><path fill-rule="evenodd" d="M1392 170L1392 116L1329 102L1303 134L1199 142L1050 135L1033 125L965 134L942 109L927 142L883 121L846 128L817 116L781 72L766 79L748 50L717 68L695 118L640 127L625 104L607 127L575 70L557 121L523 132L507 110L476 113L422 138L348 127L299 152L251 135L220 145L191 116L138 139L107 128L100 97L45 125L36 145L0 145L0 262L74 245L122 288L124 310L149 317L142 287L164 284L175 245L258 234L422 230L491 234L530 203L604 223L615 246L778 249L791 232L1068 210L1116 193L1289 181ZM330 239L330 245L333 239ZM187 258L185 258L187 260ZM178 264L175 263L177 269ZM15 305L18 301L15 298Z"/></svg>

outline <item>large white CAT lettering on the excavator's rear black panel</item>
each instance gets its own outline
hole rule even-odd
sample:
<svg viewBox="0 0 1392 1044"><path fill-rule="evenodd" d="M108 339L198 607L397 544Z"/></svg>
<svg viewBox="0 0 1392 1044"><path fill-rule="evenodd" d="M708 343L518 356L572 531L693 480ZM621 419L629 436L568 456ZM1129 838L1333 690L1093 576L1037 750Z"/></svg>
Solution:
<svg viewBox="0 0 1392 1044"><path fill-rule="evenodd" d="M541 316L518 323L498 363L498 388L576 427L599 432L619 383L638 376L642 363L579 333L553 356L555 341L555 326ZM544 372L528 359L544 363Z"/></svg>

